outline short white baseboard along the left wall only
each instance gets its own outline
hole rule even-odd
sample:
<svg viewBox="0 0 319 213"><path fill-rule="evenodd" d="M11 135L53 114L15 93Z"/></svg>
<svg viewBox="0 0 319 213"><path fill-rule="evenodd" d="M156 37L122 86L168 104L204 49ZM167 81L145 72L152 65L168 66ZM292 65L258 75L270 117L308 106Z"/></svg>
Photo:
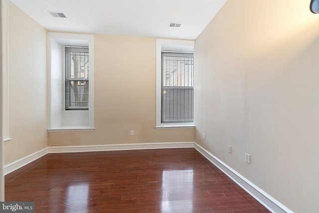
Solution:
<svg viewBox="0 0 319 213"><path fill-rule="evenodd" d="M48 154L48 148L47 147L44 148L44 149L41 149L41 150L39 150L37 152L34 152L34 153L32 153L32 154L30 154L28 156L20 158L20 159L18 159L16 161L13 161L13 162L11 162L9 164L4 165L3 173L4 173L4 175L7 175L7 174L19 169L19 168L31 163L32 161L35 161L36 159L41 158L42 156L44 156L46 154Z"/></svg>

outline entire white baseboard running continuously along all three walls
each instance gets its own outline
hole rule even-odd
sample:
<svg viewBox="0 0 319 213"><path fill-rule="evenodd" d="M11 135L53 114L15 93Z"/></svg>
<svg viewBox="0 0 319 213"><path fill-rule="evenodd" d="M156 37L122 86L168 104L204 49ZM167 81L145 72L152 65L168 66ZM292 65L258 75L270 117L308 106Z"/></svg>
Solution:
<svg viewBox="0 0 319 213"><path fill-rule="evenodd" d="M98 151L119 151L119 150L145 150L145 149L169 149L169 148L195 148L201 155L207 158L212 164L223 171L236 184L248 192L259 203L265 206L272 213L294 213L279 201L271 197L255 184L247 180L210 152L194 142L171 142L171 143L139 143L139 144L114 144L114 145L87 145L87 146L59 146L47 147L32 153L24 158L16 160L4 166L4 175L7 175L48 153L72 153L72 152L98 152Z"/></svg>

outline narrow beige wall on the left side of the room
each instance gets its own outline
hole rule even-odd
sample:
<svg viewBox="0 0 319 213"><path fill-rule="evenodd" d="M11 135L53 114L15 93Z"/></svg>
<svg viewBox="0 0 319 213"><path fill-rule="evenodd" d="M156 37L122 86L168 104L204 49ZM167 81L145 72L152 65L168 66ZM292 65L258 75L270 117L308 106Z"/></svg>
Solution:
<svg viewBox="0 0 319 213"><path fill-rule="evenodd" d="M8 164L47 147L46 30L9 3Z"/></svg>

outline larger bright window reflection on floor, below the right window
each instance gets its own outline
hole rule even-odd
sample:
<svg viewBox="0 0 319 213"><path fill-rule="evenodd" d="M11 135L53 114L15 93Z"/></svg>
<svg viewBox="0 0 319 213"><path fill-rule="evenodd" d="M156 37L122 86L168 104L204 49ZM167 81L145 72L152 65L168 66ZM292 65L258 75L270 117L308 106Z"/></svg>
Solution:
<svg viewBox="0 0 319 213"><path fill-rule="evenodd" d="M193 204L193 170L169 170L162 173L161 212L187 210Z"/></svg>

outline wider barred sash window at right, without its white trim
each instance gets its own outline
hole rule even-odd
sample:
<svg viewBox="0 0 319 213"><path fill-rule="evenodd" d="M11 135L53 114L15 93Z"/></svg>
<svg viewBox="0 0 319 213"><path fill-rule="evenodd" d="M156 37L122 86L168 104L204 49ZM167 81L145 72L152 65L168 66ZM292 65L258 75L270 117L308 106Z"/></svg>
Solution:
<svg viewBox="0 0 319 213"><path fill-rule="evenodd" d="M194 56L161 53L161 123L192 122Z"/></svg>

